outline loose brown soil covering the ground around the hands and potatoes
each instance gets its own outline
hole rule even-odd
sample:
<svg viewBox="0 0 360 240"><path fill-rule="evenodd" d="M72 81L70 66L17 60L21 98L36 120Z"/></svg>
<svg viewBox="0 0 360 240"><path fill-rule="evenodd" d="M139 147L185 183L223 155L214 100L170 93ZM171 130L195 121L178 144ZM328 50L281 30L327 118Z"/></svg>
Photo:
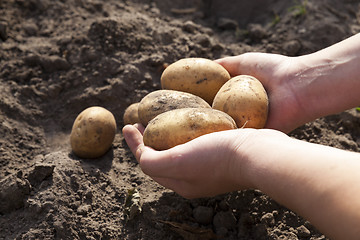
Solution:
<svg viewBox="0 0 360 240"><path fill-rule="evenodd" d="M297 56L359 30L359 0L0 1L0 239L327 239L260 191L164 189L130 153L122 115L180 58ZM69 134L94 105L118 132L106 155L80 159ZM290 135L359 152L360 113Z"/></svg>

